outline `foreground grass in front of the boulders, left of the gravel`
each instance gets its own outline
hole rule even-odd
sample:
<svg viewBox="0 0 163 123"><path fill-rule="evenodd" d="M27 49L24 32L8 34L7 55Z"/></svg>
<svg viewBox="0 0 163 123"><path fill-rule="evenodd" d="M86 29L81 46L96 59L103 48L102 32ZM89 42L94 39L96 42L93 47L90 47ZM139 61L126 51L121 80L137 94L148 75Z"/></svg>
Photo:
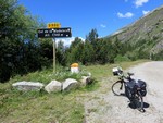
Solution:
<svg viewBox="0 0 163 123"><path fill-rule="evenodd" d="M0 122L4 123L82 123L84 107L76 101L77 91L47 94L8 89L0 100Z"/></svg>

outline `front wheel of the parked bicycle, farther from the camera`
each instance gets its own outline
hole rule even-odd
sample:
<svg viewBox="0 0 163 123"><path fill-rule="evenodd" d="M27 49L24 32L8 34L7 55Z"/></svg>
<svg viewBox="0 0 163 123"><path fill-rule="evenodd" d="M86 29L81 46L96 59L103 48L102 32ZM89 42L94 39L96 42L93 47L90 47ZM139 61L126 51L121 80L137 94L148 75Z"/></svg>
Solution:
<svg viewBox="0 0 163 123"><path fill-rule="evenodd" d="M125 95L125 88L123 86L123 82L122 81L117 81L116 83L114 83L112 85L112 91L114 95L116 96L122 96L122 95Z"/></svg>

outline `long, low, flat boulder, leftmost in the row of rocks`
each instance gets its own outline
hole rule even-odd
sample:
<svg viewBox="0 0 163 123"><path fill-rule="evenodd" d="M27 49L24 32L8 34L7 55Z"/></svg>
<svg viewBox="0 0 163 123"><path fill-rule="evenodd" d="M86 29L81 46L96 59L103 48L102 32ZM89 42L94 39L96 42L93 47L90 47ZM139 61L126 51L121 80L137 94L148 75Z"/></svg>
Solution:
<svg viewBox="0 0 163 123"><path fill-rule="evenodd" d="M43 88L43 84L37 82L17 82L12 84L13 87L17 88L18 90L40 90Z"/></svg>

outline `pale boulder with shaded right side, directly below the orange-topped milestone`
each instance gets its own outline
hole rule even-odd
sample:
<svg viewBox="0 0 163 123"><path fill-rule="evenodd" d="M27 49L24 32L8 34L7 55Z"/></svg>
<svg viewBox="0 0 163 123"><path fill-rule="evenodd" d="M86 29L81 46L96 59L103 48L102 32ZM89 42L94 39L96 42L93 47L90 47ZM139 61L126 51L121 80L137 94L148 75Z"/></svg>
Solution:
<svg viewBox="0 0 163 123"><path fill-rule="evenodd" d="M67 78L63 82L62 85L62 90L71 90L71 89L75 89L78 87L78 82L76 79L73 78Z"/></svg>

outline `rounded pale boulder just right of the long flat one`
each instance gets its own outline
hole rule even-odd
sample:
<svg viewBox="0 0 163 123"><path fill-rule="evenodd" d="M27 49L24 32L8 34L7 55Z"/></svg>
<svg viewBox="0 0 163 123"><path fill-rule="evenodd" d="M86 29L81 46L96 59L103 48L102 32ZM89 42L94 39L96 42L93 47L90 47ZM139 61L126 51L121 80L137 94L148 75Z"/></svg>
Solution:
<svg viewBox="0 0 163 123"><path fill-rule="evenodd" d="M58 93L61 91L62 89L62 84L58 81L51 81L46 87L45 90L48 93Z"/></svg>

